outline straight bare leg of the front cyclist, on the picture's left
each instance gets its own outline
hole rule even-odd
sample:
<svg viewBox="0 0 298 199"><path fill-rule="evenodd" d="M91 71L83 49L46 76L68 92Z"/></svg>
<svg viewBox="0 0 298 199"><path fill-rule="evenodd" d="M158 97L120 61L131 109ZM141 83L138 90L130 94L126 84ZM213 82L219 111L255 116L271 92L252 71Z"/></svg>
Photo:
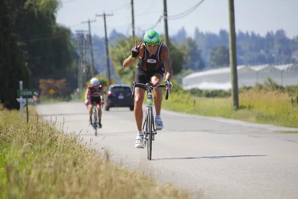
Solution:
<svg viewBox="0 0 298 199"><path fill-rule="evenodd" d="M138 131L142 131L143 122L143 100L144 100L145 90L139 87L135 88L135 118L137 123Z"/></svg>

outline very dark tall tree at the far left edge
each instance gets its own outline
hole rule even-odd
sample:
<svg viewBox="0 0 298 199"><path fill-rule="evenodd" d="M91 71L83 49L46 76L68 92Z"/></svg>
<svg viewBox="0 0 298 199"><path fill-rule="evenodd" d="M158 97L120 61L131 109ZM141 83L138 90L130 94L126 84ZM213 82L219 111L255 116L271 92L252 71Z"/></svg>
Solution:
<svg viewBox="0 0 298 199"><path fill-rule="evenodd" d="M8 10L9 0L1 0L0 13L6 17L0 17L0 103L5 108L18 109L16 90L19 89L20 80L24 81L23 86L27 88L28 71L11 29Z"/></svg>

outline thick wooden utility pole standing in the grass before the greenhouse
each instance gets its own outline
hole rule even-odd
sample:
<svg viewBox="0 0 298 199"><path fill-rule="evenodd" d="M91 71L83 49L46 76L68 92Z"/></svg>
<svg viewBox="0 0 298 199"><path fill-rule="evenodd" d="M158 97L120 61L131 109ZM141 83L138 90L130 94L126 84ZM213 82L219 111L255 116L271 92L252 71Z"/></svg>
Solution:
<svg viewBox="0 0 298 199"><path fill-rule="evenodd" d="M228 18L229 18L229 61L230 61L230 76L231 76L231 94L233 99L232 106L233 106L233 109L238 109L239 99L238 99L234 0L228 0Z"/></svg>

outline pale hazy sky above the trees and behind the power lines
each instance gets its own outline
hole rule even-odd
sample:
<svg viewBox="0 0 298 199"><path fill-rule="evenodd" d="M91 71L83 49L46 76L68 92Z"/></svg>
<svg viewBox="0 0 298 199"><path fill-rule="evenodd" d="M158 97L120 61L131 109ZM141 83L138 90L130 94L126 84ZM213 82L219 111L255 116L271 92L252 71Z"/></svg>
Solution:
<svg viewBox="0 0 298 199"><path fill-rule="evenodd" d="M168 16L179 14L201 0L167 0ZM57 22L72 29L88 29L81 24L95 14L107 16L108 34L112 29L124 34L132 34L131 0L62 0L57 14ZM255 31L264 36L268 31L283 28L287 36L298 35L298 0L234 0L236 32ZM163 13L163 0L134 0L136 34L152 27ZM91 23L91 33L104 36L103 17L96 17ZM195 27L201 31L218 33L228 30L228 0L205 0L189 15L168 20L169 35L176 34L184 26L188 36L194 35ZM163 20L154 28L163 33Z"/></svg>

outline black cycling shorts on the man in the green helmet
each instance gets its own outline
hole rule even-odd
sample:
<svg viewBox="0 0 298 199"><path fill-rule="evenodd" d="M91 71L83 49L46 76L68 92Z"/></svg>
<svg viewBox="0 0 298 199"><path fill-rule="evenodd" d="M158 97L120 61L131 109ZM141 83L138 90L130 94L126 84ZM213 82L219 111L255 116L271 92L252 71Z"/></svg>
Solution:
<svg viewBox="0 0 298 199"><path fill-rule="evenodd" d="M161 67L161 68L157 69L156 71L144 71L143 69L140 69L137 67L136 74L135 74L135 82L146 84L148 82L151 82L151 77L153 77L155 74L160 74L163 79L164 67ZM141 85L136 85L136 87L143 88Z"/></svg>

